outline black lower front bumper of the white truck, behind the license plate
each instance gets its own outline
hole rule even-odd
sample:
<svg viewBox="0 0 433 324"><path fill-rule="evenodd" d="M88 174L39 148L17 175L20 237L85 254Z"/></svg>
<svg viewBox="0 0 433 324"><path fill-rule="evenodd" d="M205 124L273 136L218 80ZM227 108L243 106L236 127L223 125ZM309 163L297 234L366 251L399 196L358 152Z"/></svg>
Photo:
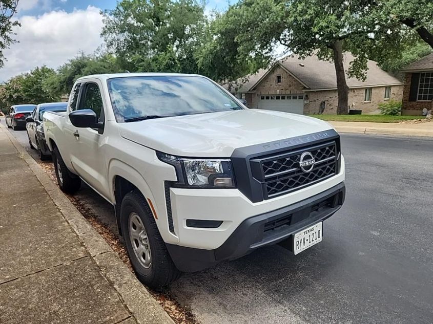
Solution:
<svg viewBox="0 0 433 324"><path fill-rule="evenodd" d="M290 238L294 233L331 217L345 199L344 182L317 195L245 219L229 238L216 249L199 249L167 244L180 271L194 272L212 267L223 260L233 260L256 248Z"/></svg>

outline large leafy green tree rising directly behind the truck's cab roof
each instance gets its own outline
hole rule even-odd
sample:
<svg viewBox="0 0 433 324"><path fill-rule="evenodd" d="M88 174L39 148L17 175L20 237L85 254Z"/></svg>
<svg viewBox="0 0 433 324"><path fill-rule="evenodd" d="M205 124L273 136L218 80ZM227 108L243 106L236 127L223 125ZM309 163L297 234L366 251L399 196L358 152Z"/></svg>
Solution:
<svg viewBox="0 0 433 324"><path fill-rule="evenodd" d="M196 0L122 0L104 12L102 36L125 70L196 73L203 10Z"/></svg>

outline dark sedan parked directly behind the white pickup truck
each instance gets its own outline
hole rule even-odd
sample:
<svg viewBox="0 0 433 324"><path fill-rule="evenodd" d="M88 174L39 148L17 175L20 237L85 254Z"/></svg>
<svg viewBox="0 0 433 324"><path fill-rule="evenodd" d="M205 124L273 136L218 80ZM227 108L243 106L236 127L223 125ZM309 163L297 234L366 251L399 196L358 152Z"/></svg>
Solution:
<svg viewBox="0 0 433 324"><path fill-rule="evenodd" d="M51 102L41 103L36 106L32 115L27 117L27 136L29 137L29 144L31 148L37 149L39 158L42 161L49 159L51 152L47 147L44 135L44 125L42 123L42 116L46 111L61 113L66 112L68 107L67 102Z"/></svg>

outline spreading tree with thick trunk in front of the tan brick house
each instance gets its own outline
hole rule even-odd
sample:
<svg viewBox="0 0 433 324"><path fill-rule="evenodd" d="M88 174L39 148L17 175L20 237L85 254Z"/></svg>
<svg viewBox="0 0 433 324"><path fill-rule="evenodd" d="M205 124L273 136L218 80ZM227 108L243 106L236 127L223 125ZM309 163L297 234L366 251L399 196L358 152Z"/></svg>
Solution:
<svg viewBox="0 0 433 324"><path fill-rule="evenodd" d="M221 16L214 45L208 48L216 55L228 53L235 62L243 66L246 62L246 66L256 71L272 61L273 49L278 44L301 58L316 54L320 59L333 61L337 76L337 113L347 114L344 52L350 51L355 56L347 71L349 76L363 79L375 42L387 41L385 37L375 38L376 33L380 36L385 33L372 22L367 9L368 0L242 0ZM201 57L217 59L206 49ZM239 71L235 69L235 72ZM221 72L223 77L230 74L228 70Z"/></svg>

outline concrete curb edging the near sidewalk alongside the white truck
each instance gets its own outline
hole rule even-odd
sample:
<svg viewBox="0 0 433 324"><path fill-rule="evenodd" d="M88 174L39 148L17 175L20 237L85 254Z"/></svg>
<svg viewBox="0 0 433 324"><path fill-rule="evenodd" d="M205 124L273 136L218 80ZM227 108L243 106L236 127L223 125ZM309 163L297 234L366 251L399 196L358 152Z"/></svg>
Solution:
<svg viewBox="0 0 433 324"><path fill-rule="evenodd" d="M70 224L79 240L86 247L102 275L117 291L138 324L174 324L170 316L162 309L155 298L128 269L119 256L105 242L101 235L89 224L70 200L51 180L46 172L27 153L26 149L0 124L3 131L18 154L29 165L33 174L47 191L65 220Z"/></svg>

